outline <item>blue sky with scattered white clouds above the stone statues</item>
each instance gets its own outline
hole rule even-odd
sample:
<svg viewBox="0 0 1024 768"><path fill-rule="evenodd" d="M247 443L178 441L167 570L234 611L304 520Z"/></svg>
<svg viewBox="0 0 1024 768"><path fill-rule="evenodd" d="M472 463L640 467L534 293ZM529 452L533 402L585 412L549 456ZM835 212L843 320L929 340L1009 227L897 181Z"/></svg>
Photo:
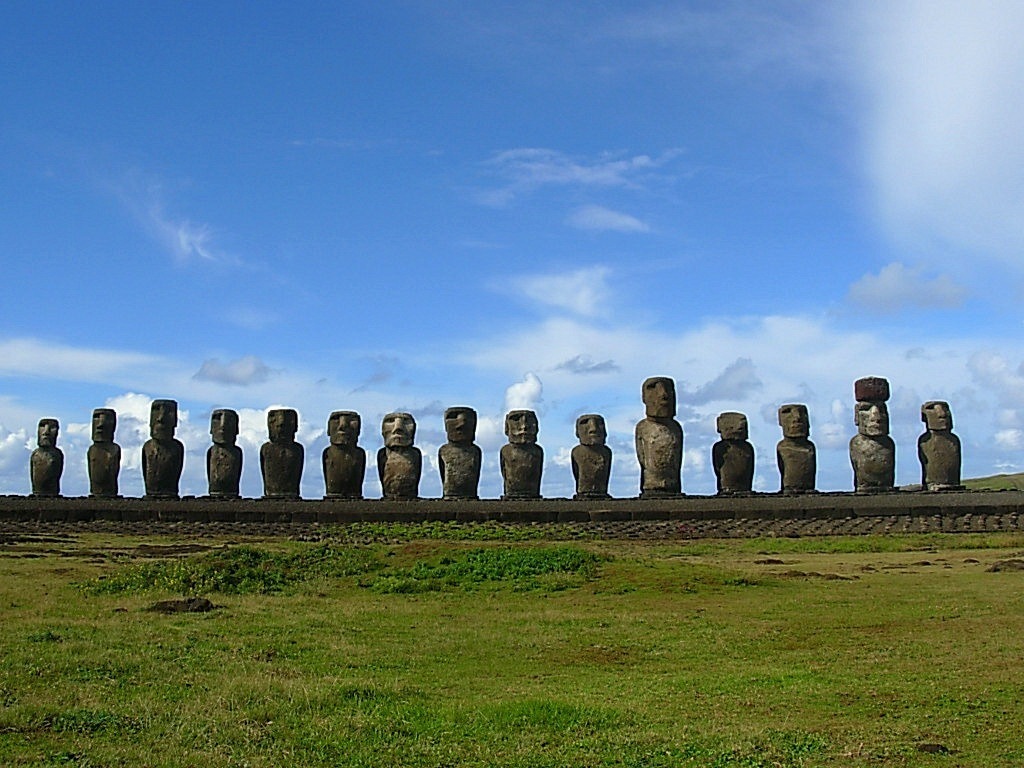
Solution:
<svg viewBox="0 0 1024 768"><path fill-rule="evenodd" d="M751 7L756 6L756 7ZM0 493L42 417L86 492L93 408L141 494L150 400L179 401L182 492L209 414L295 408L303 494L327 417L371 465L407 410L438 496L441 414L534 408L543 493L581 413L637 493L640 384L672 376L683 486L714 493L723 411L778 486L806 402L819 487L852 487L853 381L921 403L965 473L1024 469L1024 6L1015 2L13 2L0 10ZM368 496L379 495L369 469Z"/></svg>

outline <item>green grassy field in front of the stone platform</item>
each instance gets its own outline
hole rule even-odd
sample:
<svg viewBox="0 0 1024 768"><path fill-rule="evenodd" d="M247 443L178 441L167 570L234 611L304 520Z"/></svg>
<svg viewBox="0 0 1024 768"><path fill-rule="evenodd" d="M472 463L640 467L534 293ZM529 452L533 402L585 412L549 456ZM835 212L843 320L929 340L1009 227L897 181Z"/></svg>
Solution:
<svg viewBox="0 0 1024 768"><path fill-rule="evenodd" d="M0 546L0 765L1024 764L1020 536L463 530Z"/></svg>

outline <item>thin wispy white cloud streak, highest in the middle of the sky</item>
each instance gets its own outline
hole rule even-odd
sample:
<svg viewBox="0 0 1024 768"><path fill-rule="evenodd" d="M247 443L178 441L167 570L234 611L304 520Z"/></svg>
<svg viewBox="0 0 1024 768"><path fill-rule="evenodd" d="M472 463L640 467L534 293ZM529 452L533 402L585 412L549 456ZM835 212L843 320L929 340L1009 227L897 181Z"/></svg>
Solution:
<svg viewBox="0 0 1024 768"><path fill-rule="evenodd" d="M549 185L641 188L679 154L679 150L668 150L657 157L604 153L596 158L579 158L555 150L505 150L483 163L484 169L504 179L505 184L483 193L480 202L504 206Z"/></svg>

